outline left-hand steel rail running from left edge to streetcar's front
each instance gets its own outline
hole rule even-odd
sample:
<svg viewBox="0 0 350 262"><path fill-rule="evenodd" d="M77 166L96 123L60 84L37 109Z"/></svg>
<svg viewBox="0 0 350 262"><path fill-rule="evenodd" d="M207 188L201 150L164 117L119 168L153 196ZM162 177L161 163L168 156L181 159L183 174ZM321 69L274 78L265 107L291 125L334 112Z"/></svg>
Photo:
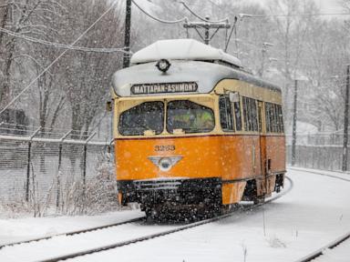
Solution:
<svg viewBox="0 0 350 262"><path fill-rule="evenodd" d="M47 237L31 238L31 239L27 239L27 240L24 240L24 241L18 241L18 242L13 242L13 243L1 245L0 249L2 249L4 247L13 247L13 246L16 246L16 245L28 244L28 243L32 243L32 242L41 241L41 240L47 240L47 239L51 239L53 237L74 236L74 235L78 235L78 234L93 232L93 231L96 231L96 230L99 230L99 229L105 229L105 228L108 228L108 227L118 227L118 226L126 225L126 224L129 224L129 223L139 222L139 221L142 221L144 219L146 219L146 217L136 217L136 218L132 218L132 219L129 219L129 220L126 220L126 221L114 223L114 224L108 224L108 225L99 226L99 227L89 227L89 228L79 229L79 230L71 231L71 232L67 232L67 233L59 233L59 234L55 234L55 235L51 235L51 236L47 236Z"/></svg>

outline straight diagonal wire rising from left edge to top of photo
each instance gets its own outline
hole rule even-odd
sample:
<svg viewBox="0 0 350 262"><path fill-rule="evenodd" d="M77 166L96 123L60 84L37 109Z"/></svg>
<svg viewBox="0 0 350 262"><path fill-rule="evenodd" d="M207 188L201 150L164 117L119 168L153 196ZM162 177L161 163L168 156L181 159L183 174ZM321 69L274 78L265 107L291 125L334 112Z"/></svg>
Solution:
<svg viewBox="0 0 350 262"><path fill-rule="evenodd" d="M115 5L117 5L117 3L118 3L118 1L115 1L112 5L110 5L109 8L108 8L108 10L105 11L102 15L100 15L100 16L98 17L98 19L97 19L94 23L92 23L92 25L88 26L88 29L86 29L81 35L79 35L79 36L77 37L77 39L76 39L71 45L76 45L77 42L78 42L84 35L87 35L87 34L88 34L88 31L90 31L92 27L94 27L96 24L98 24L98 22L99 22L105 15L107 15L107 14L109 13L109 11L112 10L112 9L115 7ZM15 101L16 101L20 96L22 96L22 95L26 92L26 90L27 90L28 88L30 88L31 86L33 86L33 84L36 83L36 80L39 79L41 76L43 76L43 75L46 73L46 71L47 71L48 69L50 69L53 65L55 65L55 64L57 63L57 61L58 61L63 55L66 55L66 53L67 53L68 50L69 50L69 49L66 49L65 51L63 51L60 55L57 56L57 58L56 58L50 65L47 65L46 68L45 68L39 75L37 75L37 76L29 83L28 86L26 86L17 96L15 96L15 97L10 101L10 103L8 103L3 109L0 110L0 115L1 115L2 113L4 113L5 110L6 110L9 106L11 106L12 104L14 104Z"/></svg>

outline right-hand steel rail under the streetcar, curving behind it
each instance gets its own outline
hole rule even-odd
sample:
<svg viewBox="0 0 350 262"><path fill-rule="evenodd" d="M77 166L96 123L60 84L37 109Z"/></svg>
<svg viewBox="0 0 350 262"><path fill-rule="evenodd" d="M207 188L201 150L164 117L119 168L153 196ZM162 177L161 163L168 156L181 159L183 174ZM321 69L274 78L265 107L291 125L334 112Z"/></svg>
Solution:
<svg viewBox="0 0 350 262"><path fill-rule="evenodd" d="M289 193L293 189L293 180L290 177L288 177L288 176L285 176L285 178L290 182L289 188L287 188L286 190L283 190L283 192L281 192L277 196L273 196L273 197L267 199L264 203L260 203L260 204L257 204L257 205L252 205L252 206L249 206L249 207L243 207L241 210L242 211L244 211L244 210L252 210L252 207L253 208L262 207L264 204L270 203L270 202L272 202L272 201L274 201L274 200L276 200L276 199L286 195L287 193ZM135 243L146 241L146 240L153 239L153 238L156 238L156 237L167 236L167 235L170 235L170 234L173 234L173 233L177 233L177 232L180 232L180 231L183 231L183 230L186 230L186 229L190 229L190 228L193 228L193 227L199 227L199 226L202 226L202 225L210 224L212 222L216 222L216 221L221 220L223 218L232 217L234 214L235 214L235 212L230 212L228 214L224 214L224 215L221 215L219 217L212 217L212 218L209 218L209 219L206 219L206 220L201 220L199 222L194 222L194 223L191 223L189 225L178 227L178 228L174 228L174 229L170 229L170 230L167 230L167 231L164 231L164 232L151 234L151 235L144 236L144 237L137 237L137 238L134 238L134 239L121 241L121 242L114 243L114 244L107 245L107 246L103 246L103 247L95 247L95 248L91 248L91 249L84 250L84 251L78 251L76 253L71 253L71 254L67 254L67 255L63 255L63 256L51 257L51 258L48 258L48 259L39 260L37 262L57 262L57 261L66 260L66 259L70 259L70 258L91 255L91 254L94 254L94 253L106 251L106 250L109 250L109 249L114 249L114 248L117 248L117 247L124 247L124 246L128 246L130 244L135 244Z"/></svg>

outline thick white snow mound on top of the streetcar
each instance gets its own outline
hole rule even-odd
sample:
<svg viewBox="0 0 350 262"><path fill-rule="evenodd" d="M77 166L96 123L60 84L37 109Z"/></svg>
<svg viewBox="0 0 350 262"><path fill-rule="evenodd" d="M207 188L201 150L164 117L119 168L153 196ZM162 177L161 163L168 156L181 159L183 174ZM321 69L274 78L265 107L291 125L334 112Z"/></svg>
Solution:
<svg viewBox="0 0 350 262"><path fill-rule="evenodd" d="M221 49L204 45L194 39L170 39L160 40L149 45L131 57L131 64L144 64L158 61L160 59L169 60L199 60L199 61L223 61L237 67L242 67L241 61L226 54Z"/></svg>

